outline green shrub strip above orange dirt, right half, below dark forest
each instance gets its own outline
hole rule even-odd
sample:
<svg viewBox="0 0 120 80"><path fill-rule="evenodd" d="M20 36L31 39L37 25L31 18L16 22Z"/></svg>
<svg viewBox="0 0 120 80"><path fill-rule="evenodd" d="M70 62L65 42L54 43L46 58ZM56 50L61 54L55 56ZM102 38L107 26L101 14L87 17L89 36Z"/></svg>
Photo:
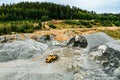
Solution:
<svg viewBox="0 0 120 80"><path fill-rule="evenodd" d="M112 26L120 26L120 21L108 21L108 20L66 20L64 21L64 23L66 24L70 24L70 25L80 25L84 26L86 28L91 28L94 26L104 26L104 27L112 27Z"/></svg>

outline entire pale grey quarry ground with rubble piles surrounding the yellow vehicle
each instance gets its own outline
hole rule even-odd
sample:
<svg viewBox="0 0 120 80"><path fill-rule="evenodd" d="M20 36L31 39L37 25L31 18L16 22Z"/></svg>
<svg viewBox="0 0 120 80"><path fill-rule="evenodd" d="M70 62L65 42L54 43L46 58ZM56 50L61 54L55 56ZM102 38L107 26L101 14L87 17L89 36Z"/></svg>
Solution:
<svg viewBox="0 0 120 80"><path fill-rule="evenodd" d="M75 36L68 42L44 37L1 43L0 80L120 79L119 40L105 33ZM51 53L59 58L48 64L45 58Z"/></svg>

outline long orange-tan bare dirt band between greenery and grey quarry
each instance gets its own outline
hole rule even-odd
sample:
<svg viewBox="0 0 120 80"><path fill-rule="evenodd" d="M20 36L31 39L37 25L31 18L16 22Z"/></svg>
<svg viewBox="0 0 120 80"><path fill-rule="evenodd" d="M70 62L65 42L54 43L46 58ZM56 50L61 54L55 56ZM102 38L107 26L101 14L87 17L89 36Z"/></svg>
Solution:
<svg viewBox="0 0 120 80"><path fill-rule="evenodd" d="M120 27L93 27L93 28L68 28L68 29L50 29L50 30L37 30L33 33L19 33L19 36L22 40L25 40L27 37L33 38L33 37L38 37L41 35L50 35L54 34L55 40L58 41L64 41L68 40L72 36L75 35L87 35L87 34L92 34L95 32L100 32L103 30L120 30ZM15 39L16 34L12 35L5 35L6 37L11 36L13 39Z"/></svg>

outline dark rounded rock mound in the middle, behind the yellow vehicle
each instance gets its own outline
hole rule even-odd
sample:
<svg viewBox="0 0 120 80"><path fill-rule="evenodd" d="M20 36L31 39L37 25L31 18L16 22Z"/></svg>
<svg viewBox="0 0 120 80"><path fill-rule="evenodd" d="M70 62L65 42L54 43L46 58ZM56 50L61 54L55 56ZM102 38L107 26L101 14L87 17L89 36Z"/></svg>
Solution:
<svg viewBox="0 0 120 80"><path fill-rule="evenodd" d="M86 48L87 45L88 45L87 39L80 35L71 38L67 43L67 46L79 48Z"/></svg>

